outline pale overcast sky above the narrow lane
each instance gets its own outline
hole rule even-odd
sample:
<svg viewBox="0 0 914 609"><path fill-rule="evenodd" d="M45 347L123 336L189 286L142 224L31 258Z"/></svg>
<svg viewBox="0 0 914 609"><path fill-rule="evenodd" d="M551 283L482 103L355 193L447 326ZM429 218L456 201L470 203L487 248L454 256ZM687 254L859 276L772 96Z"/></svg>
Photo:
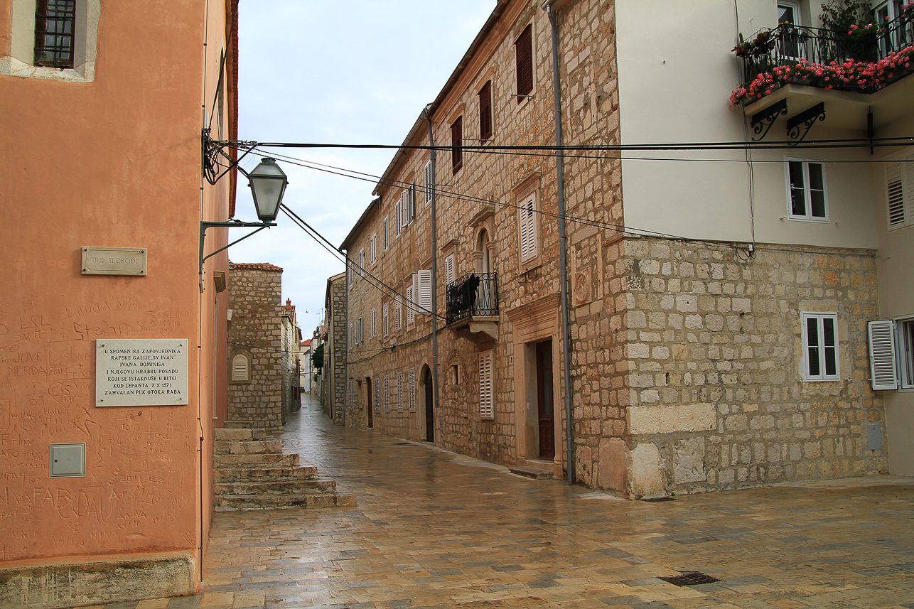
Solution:
<svg viewBox="0 0 914 609"><path fill-rule="evenodd" d="M239 139L317 144L401 144L434 101L495 0L241 0ZM460 10L456 10L457 7ZM392 150L275 150L380 176ZM242 166L260 161L251 156ZM336 246L372 199L377 178L357 180L294 166L282 202ZM254 220L239 180L237 217ZM281 266L282 300L296 305L304 338L324 306L337 261L282 213L229 250L232 262ZM232 230L232 240L244 231Z"/></svg>

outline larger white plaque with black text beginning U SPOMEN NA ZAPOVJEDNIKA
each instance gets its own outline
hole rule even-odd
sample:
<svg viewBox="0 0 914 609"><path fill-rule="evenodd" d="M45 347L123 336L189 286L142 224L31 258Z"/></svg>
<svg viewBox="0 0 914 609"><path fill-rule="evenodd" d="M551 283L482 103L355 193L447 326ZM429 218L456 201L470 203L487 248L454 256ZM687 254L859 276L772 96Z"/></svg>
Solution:
<svg viewBox="0 0 914 609"><path fill-rule="evenodd" d="M186 338L95 341L96 406L186 403Z"/></svg>

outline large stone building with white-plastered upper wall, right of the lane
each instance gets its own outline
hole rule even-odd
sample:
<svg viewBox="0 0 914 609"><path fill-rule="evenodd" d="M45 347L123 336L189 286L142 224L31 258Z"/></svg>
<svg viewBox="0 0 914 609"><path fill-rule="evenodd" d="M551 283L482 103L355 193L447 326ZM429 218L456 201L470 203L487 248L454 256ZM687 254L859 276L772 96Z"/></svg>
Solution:
<svg viewBox="0 0 914 609"><path fill-rule="evenodd" d="M910 453L912 394L871 386L867 324L914 341L908 216L887 211L910 212L914 172L868 138L909 133L914 79L729 108L739 32L785 6L499 2L344 241L346 424L629 497L909 474L887 454ZM811 138L856 145L796 147L797 120L761 112L785 96L791 119L834 108ZM557 142L561 181L537 148Z"/></svg>

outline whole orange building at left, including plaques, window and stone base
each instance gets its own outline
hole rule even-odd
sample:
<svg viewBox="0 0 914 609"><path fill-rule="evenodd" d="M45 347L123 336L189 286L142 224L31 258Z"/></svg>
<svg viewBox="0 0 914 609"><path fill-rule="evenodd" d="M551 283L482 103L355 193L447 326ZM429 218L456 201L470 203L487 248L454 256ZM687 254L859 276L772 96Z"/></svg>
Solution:
<svg viewBox="0 0 914 609"><path fill-rule="evenodd" d="M228 304L228 229L200 222L236 187L201 144L238 138L237 15L0 0L0 607L200 589ZM125 381L112 340L173 378Z"/></svg>

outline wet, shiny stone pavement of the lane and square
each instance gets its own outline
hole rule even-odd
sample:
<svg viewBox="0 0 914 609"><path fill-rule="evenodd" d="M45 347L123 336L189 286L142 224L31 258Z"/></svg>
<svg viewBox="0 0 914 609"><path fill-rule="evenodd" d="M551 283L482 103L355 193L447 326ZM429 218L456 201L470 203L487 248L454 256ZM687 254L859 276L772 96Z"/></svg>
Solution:
<svg viewBox="0 0 914 609"><path fill-rule="evenodd" d="M282 435L356 508L218 513L204 593L105 609L914 609L914 479L626 501L370 431ZM658 579L703 572L720 582Z"/></svg>

